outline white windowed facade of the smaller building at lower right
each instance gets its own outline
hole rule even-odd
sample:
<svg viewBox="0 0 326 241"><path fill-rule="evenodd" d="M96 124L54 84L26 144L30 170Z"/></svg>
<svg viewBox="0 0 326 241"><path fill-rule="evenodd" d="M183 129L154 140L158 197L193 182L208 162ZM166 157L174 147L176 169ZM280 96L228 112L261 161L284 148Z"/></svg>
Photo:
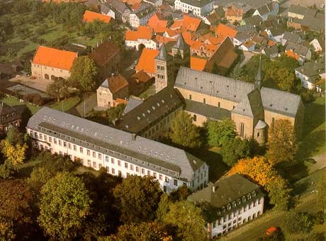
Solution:
<svg viewBox="0 0 326 241"><path fill-rule="evenodd" d="M237 228L239 225L262 215L264 211L264 197L253 197L252 201L247 201L245 206L240 203L239 208L232 208L231 205L228 208L230 208L230 211L226 210L223 217L218 218L213 223L208 223L208 231L211 230L210 238L219 237ZM223 215L223 213L220 215Z"/></svg>

